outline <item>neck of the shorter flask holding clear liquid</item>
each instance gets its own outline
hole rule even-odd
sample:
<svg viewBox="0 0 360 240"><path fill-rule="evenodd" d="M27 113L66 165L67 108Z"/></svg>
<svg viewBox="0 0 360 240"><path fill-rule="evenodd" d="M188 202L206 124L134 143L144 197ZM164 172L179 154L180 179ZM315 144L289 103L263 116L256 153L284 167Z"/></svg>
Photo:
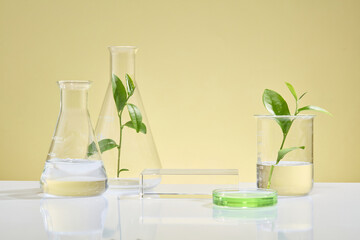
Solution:
<svg viewBox="0 0 360 240"><path fill-rule="evenodd" d="M87 111L88 81L60 81L61 111Z"/></svg>

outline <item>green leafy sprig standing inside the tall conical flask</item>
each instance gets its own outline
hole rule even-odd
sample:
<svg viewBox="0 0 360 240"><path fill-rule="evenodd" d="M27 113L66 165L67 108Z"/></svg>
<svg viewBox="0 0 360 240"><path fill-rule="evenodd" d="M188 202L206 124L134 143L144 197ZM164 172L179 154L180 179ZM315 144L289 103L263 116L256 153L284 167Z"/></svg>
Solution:
<svg viewBox="0 0 360 240"><path fill-rule="evenodd" d="M143 134L146 134L147 132L146 125L142 122L142 115L139 108L135 104L128 102L130 97L134 94L136 88L135 84L129 74L125 74L125 80L126 80L126 89L118 76L113 74L111 78L113 97L116 105L117 115L119 117L119 126L120 126L119 143L116 143L116 141L109 138L102 139L98 142L101 153L113 148L118 149L117 171L116 171L117 177L119 177L121 172L129 171L129 169L127 168L120 168L121 144L123 140L124 127L134 129L137 133L141 132ZM125 110L125 106L129 113L130 121L123 124L122 117ZM90 144L88 148L88 156L94 153L94 149L96 150L95 143Z"/></svg>

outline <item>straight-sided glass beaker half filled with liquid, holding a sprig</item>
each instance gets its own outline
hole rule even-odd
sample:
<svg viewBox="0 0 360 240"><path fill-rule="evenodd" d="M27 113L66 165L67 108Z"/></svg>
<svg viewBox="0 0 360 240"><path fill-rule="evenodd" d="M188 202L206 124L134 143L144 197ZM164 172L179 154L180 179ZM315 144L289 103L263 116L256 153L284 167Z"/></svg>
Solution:
<svg viewBox="0 0 360 240"><path fill-rule="evenodd" d="M314 175L314 116L255 117L257 118L257 186L274 189L280 196L308 194L313 186ZM285 123L289 124L290 128L284 137L280 125Z"/></svg>

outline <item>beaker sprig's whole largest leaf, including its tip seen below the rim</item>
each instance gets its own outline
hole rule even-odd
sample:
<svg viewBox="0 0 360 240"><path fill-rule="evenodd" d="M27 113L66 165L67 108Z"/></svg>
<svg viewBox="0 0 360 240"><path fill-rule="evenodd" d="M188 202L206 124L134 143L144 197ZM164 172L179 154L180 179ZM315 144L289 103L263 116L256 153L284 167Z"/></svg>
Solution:
<svg viewBox="0 0 360 240"><path fill-rule="evenodd" d="M284 98L277 92L265 89L263 93L263 103L265 108L273 115L290 115L289 107ZM287 135L292 121L289 118L276 118L284 135Z"/></svg>

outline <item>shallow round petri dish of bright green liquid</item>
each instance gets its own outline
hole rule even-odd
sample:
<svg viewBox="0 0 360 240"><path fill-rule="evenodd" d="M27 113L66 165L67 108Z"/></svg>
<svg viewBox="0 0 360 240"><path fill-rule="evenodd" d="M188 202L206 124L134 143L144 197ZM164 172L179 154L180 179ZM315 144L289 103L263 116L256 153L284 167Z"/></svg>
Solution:
<svg viewBox="0 0 360 240"><path fill-rule="evenodd" d="M277 193L271 189L216 189L213 203L221 207L256 208L273 206Z"/></svg>

